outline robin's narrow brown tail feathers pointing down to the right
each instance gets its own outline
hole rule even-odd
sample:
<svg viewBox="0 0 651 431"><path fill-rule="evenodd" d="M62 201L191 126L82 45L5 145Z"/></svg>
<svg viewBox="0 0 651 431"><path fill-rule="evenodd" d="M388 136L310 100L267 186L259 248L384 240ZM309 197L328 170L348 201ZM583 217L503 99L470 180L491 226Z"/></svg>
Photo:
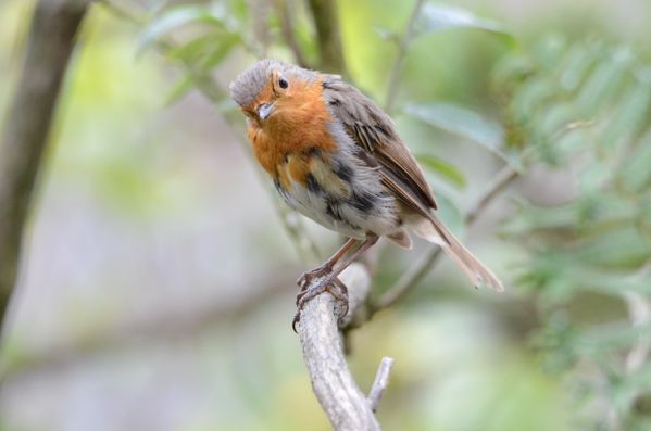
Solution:
<svg viewBox="0 0 651 431"><path fill-rule="evenodd" d="M504 286L497 276L479 262L434 214L429 214L428 218L422 218L412 228L418 237L440 245L475 288L486 284L498 292L504 291Z"/></svg>

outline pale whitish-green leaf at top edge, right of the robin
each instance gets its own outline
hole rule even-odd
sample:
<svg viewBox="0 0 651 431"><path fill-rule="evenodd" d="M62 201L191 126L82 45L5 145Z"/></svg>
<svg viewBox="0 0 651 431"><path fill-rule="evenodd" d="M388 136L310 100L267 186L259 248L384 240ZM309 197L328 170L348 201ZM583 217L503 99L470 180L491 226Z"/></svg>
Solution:
<svg viewBox="0 0 651 431"><path fill-rule="evenodd" d="M513 40L513 37L499 23L476 16L465 9L447 4L425 3L416 18L414 28L417 36L455 28L475 28Z"/></svg>

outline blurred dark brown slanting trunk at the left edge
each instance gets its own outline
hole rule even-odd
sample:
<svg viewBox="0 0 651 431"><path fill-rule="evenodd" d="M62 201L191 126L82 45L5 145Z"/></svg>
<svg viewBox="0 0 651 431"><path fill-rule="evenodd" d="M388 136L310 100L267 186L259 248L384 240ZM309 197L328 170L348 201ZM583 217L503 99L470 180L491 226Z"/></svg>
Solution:
<svg viewBox="0 0 651 431"><path fill-rule="evenodd" d="M85 0L39 0L0 141L0 319L16 283L23 230Z"/></svg>

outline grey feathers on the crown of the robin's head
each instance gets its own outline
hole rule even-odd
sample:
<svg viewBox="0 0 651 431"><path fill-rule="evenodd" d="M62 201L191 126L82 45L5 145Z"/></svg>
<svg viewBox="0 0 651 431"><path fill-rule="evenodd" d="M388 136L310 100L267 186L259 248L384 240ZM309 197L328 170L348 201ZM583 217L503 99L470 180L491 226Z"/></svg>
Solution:
<svg viewBox="0 0 651 431"><path fill-rule="evenodd" d="M274 59L260 60L245 72L238 75L230 83L230 97L240 106L246 106L255 100L255 97L262 91L268 83L270 76L274 71L286 75L288 78L298 76L302 79L313 80L318 75L316 72L308 71L293 64L283 63Z"/></svg>

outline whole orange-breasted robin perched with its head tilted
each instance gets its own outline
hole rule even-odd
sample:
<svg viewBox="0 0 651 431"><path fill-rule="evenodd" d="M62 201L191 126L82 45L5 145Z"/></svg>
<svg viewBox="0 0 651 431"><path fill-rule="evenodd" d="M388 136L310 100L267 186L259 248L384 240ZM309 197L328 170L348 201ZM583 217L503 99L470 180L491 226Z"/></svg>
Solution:
<svg viewBox="0 0 651 431"><path fill-rule="evenodd" d="M380 237L411 249L410 232L438 244L475 288L500 279L450 232L423 169L393 121L341 76L260 60L229 86L246 117L253 154L288 206L348 241L297 281L297 314L328 291L343 302L338 275ZM296 330L296 327L295 327Z"/></svg>

